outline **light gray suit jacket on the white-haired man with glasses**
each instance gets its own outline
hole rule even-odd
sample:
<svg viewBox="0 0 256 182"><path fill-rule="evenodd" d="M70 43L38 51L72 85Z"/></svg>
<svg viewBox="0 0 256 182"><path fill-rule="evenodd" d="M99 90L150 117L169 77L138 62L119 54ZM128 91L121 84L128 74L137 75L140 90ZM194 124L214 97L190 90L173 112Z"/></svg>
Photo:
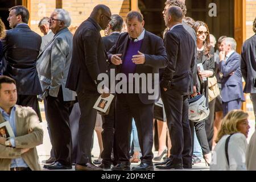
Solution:
<svg viewBox="0 0 256 182"><path fill-rule="evenodd" d="M36 69L43 90L42 99L48 94L57 97L62 86L64 101L75 100L76 93L65 88L72 57L72 38L68 28L64 28L55 34L38 56Z"/></svg>

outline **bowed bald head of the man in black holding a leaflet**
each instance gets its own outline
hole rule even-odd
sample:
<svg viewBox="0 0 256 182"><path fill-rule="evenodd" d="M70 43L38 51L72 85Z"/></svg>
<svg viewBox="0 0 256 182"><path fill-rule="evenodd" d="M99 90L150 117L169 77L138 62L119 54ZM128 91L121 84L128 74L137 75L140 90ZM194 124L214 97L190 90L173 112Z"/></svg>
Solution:
<svg viewBox="0 0 256 182"><path fill-rule="evenodd" d="M111 11L106 5L97 5L94 7L90 18L94 19L103 30L108 26L111 18Z"/></svg>

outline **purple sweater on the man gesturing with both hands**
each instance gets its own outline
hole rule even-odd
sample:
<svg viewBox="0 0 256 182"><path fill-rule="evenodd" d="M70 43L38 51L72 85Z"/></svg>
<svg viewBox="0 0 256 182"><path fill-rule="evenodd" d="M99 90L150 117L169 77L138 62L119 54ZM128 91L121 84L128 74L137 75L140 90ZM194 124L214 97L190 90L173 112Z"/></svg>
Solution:
<svg viewBox="0 0 256 182"><path fill-rule="evenodd" d="M139 40L138 42L129 41L125 59L122 64L122 73L125 73L127 78L129 73L135 73L136 64L134 64L131 59L133 59L133 55L138 55L138 51L141 49L142 40Z"/></svg>

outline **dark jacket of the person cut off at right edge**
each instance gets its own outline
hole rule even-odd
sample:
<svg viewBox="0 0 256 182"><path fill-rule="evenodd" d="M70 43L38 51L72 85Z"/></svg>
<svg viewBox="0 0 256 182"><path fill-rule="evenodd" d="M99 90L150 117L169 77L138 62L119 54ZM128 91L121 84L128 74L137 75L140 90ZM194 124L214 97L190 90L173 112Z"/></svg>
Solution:
<svg viewBox="0 0 256 182"><path fill-rule="evenodd" d="M241 71L245 80L243 92L256 93L256 34L243 43L241 56Z"/></svg>

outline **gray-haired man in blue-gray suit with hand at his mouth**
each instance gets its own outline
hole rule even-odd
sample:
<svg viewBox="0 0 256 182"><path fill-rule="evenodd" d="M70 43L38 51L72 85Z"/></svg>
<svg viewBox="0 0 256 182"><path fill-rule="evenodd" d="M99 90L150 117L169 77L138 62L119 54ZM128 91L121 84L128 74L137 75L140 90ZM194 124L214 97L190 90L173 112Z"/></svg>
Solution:
<svg viewBox="0 0 256 182"><path fill-rule="evenodd" d="M242 88L241 57L235 51L236 40L225 38L221 43L220 69L221 96L223 102L223 116L229 111L241 109L242 102L245 101Z"/></svg>

